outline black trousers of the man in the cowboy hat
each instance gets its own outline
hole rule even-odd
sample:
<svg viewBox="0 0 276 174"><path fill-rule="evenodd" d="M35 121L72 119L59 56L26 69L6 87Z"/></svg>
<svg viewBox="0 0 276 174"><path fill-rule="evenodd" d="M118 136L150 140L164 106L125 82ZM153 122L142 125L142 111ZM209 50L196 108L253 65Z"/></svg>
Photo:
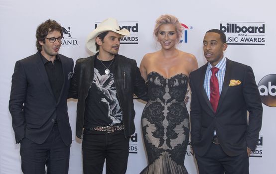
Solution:
<svg viewBox="0 0 276 174"><path fill-rule="evenodd" d="M129 138L124 130L113 133L84 129L83 173L102 174L106 160L107 174L125 174L129 157Z"/></svg>

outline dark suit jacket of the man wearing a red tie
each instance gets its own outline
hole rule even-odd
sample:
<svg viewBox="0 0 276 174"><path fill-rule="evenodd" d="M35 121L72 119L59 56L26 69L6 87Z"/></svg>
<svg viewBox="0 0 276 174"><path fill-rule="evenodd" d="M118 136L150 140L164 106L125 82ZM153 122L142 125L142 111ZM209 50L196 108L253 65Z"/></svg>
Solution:
<svg viewBox="0 0 276 174"><path fill-rule="evenodd" d="M252 68L227 59L216 113L203 87L206 69L207 64L190 74L191 143L194 152L199 156L207 152L215 130L227 155L240 155L247 147L255 150L262 126L263 107ZM230 80L240 80L241 84L229 87Z"/></svg>

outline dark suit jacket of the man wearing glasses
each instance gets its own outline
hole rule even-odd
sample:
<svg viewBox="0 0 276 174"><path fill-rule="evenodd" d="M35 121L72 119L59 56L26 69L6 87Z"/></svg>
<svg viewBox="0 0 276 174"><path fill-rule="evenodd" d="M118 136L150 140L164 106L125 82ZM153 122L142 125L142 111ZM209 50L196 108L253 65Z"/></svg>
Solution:
<svg viewBox="0 0 276 174"><path fill-rule="evenodd" d="M64 82L56 101L40 53L15 63L12 75L9 111L15 141L23 138L42 144L50 134L55 119L63 142L72 143L67 113L67 96L73 72L73 59L59 54Z"/></svg>

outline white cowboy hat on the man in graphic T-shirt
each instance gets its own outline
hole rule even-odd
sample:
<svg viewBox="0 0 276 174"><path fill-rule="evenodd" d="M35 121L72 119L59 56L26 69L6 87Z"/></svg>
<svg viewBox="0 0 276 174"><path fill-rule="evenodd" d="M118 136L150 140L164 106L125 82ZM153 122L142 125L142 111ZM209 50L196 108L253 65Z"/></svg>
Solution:
<svg viewBox="0 0 276 174"><path fill-rule="evenodd" d="M129 30L127 29L122 29L120 30L120 27L118 25L118 22L117 22L117 19L114 19L114 18L108 18L104 21L102 21L98 26L97 28L92 31L87 39L86 39L86 46L87 48L92 51L93 53L96 53L96 38L97 36L99 36L99 34L103 33L103 32L106 32L106 31L114 31L118 34L121 34L122 37L124 36L129 36L130 35L130 32Z"/></svg>

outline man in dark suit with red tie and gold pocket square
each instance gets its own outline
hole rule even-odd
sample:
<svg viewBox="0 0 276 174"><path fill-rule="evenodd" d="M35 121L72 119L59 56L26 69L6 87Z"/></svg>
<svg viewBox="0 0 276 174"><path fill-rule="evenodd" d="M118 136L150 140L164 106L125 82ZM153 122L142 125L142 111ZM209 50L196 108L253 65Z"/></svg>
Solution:
<svg viewBox="0 0 276 174"><path fill-rule="evenodd" d="M208 63L190 74L191 142L200 174L249 174L248 157L262 126L253 70L224 57L226 48L222 31L207 31Z"/></svg>

